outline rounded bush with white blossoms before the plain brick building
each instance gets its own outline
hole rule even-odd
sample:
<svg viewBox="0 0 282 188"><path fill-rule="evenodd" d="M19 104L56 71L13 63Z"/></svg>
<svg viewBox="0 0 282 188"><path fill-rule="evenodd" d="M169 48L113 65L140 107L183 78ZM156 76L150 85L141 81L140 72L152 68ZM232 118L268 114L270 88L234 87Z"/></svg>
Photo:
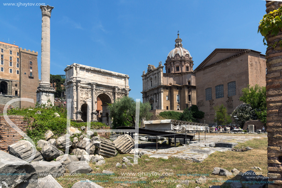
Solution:
<svg viewBox="0 0 282 188"><path fill-rule="evenodd" d="M237 122L241 128L243 128L246 121L257 119L256 110L253 109L250 104L246 103L237 106L232 112L231 116L233 118L234 116L237 116L237 121L236 119L234 119L234 121Z"/></svg>

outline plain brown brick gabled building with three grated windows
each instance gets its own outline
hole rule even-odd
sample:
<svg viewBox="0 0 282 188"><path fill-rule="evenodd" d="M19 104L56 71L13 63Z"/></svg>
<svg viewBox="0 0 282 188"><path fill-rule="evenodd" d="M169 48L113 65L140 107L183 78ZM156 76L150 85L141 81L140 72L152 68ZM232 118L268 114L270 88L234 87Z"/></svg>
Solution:
<svg viewBox="0 0 282 188"><path fill-rule="evenodd" d="M242 88L248 84L266 86L266 60L249 49L215 49L195 70L197 106L205 112L200 122L215 124L214 106L223 104L228 114L243 102Z"/></svg>

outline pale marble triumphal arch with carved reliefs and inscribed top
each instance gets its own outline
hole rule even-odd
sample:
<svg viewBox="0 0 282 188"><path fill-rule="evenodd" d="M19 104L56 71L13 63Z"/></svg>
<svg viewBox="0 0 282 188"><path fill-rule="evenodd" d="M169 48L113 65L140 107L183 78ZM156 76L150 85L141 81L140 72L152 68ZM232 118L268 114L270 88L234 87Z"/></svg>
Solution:
<svg viewBox="0 0 282 188"><path fill-rule="evenodd" d="M87 120L87 101L91 99L91 121L110 124L108 104L128 96L128 75L73 63L65 69L66 98L71 99L71 119ZM102 108L101 111L97 108ZM97 120L98 119L98 120Z"/></svg>

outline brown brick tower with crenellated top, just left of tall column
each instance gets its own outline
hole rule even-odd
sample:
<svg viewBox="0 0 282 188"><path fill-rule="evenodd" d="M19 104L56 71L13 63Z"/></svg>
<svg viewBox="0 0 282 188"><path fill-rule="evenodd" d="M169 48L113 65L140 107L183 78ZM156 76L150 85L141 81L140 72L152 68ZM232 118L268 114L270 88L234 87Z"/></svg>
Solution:
<svg viewBox="0 0 282 188"><path fill-rule="evenodd" d="M36 90L39 86L38 78L38 65L37 65L38 52L20 48L21 60L21 76L20 76L20 93L21 98L31 98L33 103L21 101L20 107L34 107L36 104Z"/></svg>

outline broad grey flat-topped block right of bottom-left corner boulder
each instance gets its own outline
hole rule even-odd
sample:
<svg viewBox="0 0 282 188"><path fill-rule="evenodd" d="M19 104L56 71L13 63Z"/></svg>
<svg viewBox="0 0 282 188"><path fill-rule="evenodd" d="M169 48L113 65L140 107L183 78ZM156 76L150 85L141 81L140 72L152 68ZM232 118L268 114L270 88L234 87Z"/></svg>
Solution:
<svg viewBox="0 0 282 188"><path fill-rule="evenodd" d="M30 163L36 170L38 178L44 178L47 175L51 175L54 178L58 178L65 173L66 169L60 162L47 162L47 161L36 161Z"/></svg>

